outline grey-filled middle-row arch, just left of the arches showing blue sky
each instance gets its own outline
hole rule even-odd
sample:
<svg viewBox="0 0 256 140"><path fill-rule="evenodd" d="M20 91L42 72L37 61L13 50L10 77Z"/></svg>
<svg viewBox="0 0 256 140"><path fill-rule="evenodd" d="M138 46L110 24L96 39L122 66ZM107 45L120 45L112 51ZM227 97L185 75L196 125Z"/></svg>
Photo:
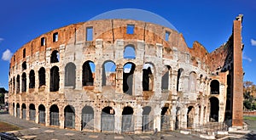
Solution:
<svg viewBox="0 0 256 140"><path fill-rule="evenodd" d="M69 62L65 66L65 87L76 86L76 65Z"/></svg>

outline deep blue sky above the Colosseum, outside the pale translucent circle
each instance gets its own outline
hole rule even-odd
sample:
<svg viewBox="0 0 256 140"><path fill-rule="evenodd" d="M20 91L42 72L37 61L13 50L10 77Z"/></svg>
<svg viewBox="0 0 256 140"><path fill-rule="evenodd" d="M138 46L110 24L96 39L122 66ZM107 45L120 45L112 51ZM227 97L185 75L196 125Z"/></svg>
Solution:
<svg viewBox="0 0 256 140"><path fill-rule="evenodd" d="M183 33L189 47L198 41L208 52L228 40L233 20L244 14L244 80L256 84L255 0L10 0L0 2L0 87L8 89L9 54L26 42L61 26L87 21L119 8L140 8L159 14Z"/></svg>

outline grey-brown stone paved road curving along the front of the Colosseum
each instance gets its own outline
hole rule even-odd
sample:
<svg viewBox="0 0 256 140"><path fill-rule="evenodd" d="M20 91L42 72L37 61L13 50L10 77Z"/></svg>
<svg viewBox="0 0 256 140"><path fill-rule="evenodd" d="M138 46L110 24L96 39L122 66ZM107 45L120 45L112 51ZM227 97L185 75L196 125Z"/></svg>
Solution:
<svg viewBox="0 0 256 140"><path fill-rule="evenodd" d="M0 115L0 121L5 121L9 124L19 126L20 131L12 132L16 137L21 139L41 139L41 140L201 140L200 137L193 135L183 135L178 132L159 132L156 135L151 134L114 134L101 132L80 132L67 129L59 129L54 127L46 127L38 125L29 120L21 120L12 115Z"/></svg>

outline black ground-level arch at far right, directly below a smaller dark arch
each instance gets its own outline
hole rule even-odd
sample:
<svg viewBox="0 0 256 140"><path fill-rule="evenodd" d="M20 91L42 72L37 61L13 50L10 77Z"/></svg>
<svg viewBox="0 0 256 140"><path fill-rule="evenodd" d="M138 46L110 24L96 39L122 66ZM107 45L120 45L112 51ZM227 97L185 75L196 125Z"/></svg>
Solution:
<svg viewBox="0 0 256 140"><path fill-rule="evenodd" d="M211 104L210 121L218 122L218 110L219 110L218 98L215 98L215 97L210 98L210 104Z"/></svg>

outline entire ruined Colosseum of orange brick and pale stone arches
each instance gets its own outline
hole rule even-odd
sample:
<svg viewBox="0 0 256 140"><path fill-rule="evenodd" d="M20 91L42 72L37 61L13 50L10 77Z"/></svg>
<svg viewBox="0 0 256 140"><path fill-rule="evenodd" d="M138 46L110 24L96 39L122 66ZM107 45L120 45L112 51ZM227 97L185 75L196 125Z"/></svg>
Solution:
<svg viewBox="0 0 256 140"><path fill-rule="evenodd" d="M153 132L225 123L241 129L242 15L208 53L175 29L90 20L49 31L9 66L9 113L44 126Z"/></svg>

